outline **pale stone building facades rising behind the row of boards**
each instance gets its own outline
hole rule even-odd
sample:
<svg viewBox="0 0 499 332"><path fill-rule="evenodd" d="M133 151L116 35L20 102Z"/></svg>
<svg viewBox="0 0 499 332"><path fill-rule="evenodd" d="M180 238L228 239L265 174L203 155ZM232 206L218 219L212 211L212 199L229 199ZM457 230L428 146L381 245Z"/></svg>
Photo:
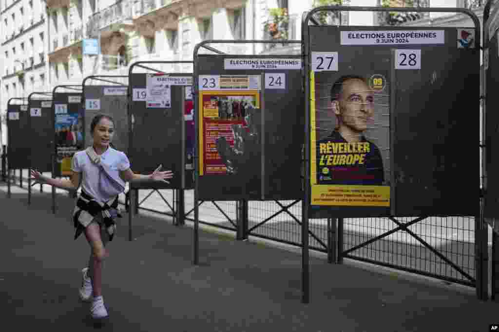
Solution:
<svg viewBox="0 0 499 332"><path fill-rule="evenodd" d="M207 39L301 38L301 15L341 0L0 0L0 143L6 142L5 113L12 97L81 84L90 75L128 75L136 61L192 60ZM480 7L480 0L343 0L352 6ZM480 13L480 9L477 9ZM324 22L386 25L386 14L347 12ZM397 17L398 19L398 17ZM463 15L431 14L411 24L464 23ZM273 23L273 24L272 24ZM440 24L442 23L442 24ZM100 55L83 54L96 39ZM300 46L223 44L231 54L299 53ZM192 70L166 66L162 70Z"/></svg>

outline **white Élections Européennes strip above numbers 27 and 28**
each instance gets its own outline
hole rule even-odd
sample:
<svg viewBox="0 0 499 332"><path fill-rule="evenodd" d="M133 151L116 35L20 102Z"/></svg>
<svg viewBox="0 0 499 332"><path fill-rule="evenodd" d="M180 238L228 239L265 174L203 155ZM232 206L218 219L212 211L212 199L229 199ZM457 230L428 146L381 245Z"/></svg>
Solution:
<svg viewBox="0 0 499 332"><path fill-rule="evenodd" d="M341 31L341 45L413 45L444 43L444 30Z"/></svg>

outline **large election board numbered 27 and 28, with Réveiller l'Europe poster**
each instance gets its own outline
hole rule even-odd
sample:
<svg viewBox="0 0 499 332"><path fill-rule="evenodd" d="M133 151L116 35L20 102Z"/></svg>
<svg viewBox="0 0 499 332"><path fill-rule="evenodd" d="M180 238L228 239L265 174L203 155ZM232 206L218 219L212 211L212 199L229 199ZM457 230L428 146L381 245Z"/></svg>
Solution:
<svg viewBox="0 0 499 332"><path fill-rule="evenodd" d="M479 166L463 151L478 158L475 30L309 33L311 218L474 215Z"/></svg>

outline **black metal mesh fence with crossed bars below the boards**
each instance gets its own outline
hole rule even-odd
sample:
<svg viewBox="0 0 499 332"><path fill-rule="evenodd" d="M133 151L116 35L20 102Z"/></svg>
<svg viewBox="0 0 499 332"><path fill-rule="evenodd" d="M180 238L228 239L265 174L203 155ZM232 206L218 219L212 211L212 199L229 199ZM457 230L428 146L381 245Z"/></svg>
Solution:
<svg viewBox="0 0 499 332"><path fill-rule="evenodd" d="M172 190L160 190L173 201ZM150 195L147 200L144 200ZM165 215L158 193L140 191L139 209ZM246 236L301 246L301 201L249 201ZM237 232L239 202L201 202L200 222ZM194 191L185 191L186 220L194 220ZM309 220L309 243L315 251L474 286L475 219L471 217L348 218ZM403 230L407 226L407 230ZM338 236L334 234L335 229ZM332 235L332 239L330 236ZM413 236L415 235L415 236ZM420 241L422 240L422 241Z"/></svg>

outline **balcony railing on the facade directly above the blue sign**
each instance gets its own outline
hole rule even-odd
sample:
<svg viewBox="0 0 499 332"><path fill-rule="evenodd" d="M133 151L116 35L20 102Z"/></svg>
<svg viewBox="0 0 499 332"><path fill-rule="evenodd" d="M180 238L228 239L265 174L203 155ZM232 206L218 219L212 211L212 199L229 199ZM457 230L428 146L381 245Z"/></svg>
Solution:
<svg viewBox="0 0 499 332"><path fill-rule="evenodd" d="M132 6L130 0L120 0L103 10L96 12L87 23L87 35L96 37L98 30L113 23L119 23L132 18Z"/></svg>

